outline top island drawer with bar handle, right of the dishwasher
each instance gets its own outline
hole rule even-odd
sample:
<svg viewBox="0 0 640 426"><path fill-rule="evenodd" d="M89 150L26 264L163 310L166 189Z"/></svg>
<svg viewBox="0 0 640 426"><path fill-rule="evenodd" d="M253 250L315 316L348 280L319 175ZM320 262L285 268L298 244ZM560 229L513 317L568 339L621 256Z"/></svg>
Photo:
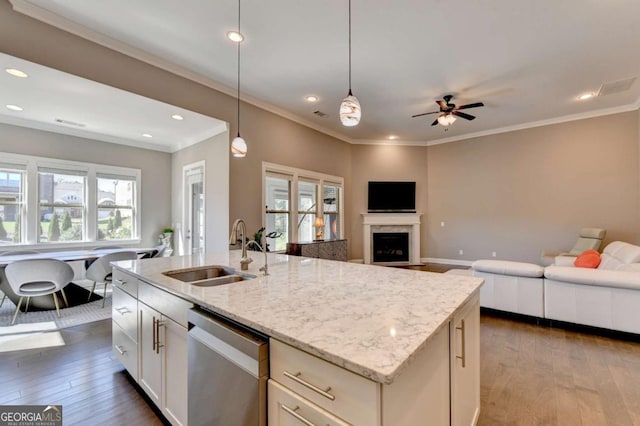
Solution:
<svg viewBox="0 0 640 426"><path fill-rule="evenodd" d="M278 340L270 340L271 378L341 419L380 424L380 386Z"/></svg>

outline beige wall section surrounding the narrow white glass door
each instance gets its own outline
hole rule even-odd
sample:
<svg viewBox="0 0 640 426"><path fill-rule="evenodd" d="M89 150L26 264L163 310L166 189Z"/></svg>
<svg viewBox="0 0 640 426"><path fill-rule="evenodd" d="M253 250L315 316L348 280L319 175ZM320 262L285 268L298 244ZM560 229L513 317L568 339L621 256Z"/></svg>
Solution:
<svg viewBox="0 0 640 426"><path fill-rule="evenodd" d="M183 218L184 173L183 167L204 161L205 186L205 250L207 253L229 249L229 135L216 135L198 144L181 149L171 155L172 204L171 218L175 231L176 249L180 243L185 248L190 243L185 239L187 229ZM180 241L178 241L180 240ZM176 254L186 253L177 250Z"/></svg>

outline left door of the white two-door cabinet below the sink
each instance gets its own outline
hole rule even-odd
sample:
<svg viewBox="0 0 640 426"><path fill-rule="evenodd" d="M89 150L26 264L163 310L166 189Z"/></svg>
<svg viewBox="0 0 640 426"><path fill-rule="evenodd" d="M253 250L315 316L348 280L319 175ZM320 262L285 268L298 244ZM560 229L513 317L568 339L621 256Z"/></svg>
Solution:
<svg viewBox="0 0 640 426"><path fill-rule="evenodd" d="M138 351L140 353L140 367L138 370L138 384L149 395L157 407L161 407L162 396L162 356L158 353L157 321L162 316L156 310L144 303L138 303Z"/></svg>

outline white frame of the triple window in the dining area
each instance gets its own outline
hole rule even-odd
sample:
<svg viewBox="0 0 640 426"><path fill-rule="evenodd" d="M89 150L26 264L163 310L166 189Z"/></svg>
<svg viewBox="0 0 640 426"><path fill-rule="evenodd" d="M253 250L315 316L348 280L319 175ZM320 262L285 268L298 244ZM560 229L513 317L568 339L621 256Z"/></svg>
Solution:
<svg viewBox="0 0 640 426"><path fill-rule="evenodd" d="M22 242L0 245L0 250L11 248L77 248L86 247L88 243L92 246L110 245L114 241L121 244L139 244L141 242L141 193L142 193L142 172L140 169L110 166L106 164L97 164L72 160L59 160L47 157L27 156L13 153L0 153L3 164L16 164L25 169L25 190L24 190L24 210ZM68 171L69 174L86 173L85 180L85 199L84 199L84 230L83 239L80 241L56 241L46 242L39 241L39 224L40 224L40 175L39 172L44 169ZM134 182L134 207L132 214L132 236L127 240L98 240L98 200L97 200L97 175L110 175L131 178ZM56 204L56 203L46 203ZM71 207L65 204L63 207Z"/></svg>

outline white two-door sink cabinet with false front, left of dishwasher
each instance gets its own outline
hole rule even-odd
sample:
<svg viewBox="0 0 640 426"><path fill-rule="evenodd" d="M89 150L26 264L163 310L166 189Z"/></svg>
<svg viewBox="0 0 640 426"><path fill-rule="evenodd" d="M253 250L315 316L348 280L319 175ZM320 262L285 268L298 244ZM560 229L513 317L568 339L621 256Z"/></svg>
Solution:
<svg viewBox="0 0 640 426"><path fill-rule="evenodd" d="M163 294L164 293L164 294ZM138 287L138 384L174 425L187 424L187 312L193 306L144 281ZM154 303L161 301L160 303ZM170 311L161 312L159 304ZM178 321L184 320L183 324Z"/></svg>

